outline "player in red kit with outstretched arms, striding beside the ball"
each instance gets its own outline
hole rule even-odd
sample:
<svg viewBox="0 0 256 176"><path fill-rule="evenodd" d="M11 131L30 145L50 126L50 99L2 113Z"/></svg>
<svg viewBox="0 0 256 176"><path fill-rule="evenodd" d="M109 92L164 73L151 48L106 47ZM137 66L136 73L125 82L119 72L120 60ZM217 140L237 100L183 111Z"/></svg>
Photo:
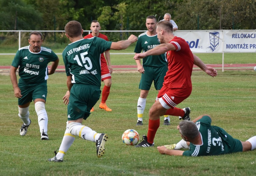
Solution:
<svg viewBox="0 0 256 176"><path fill-rule="evenodd" d="M157 101L149 110L148 135L136 147L154 146L154 137L159 128L160 116L180 116L180 119L190 120L190 108L175 107L192 92L191 74L193 65L199 66L208 75L215 77L217 71L206 66L202 60L194 55L187 42L172 34L172 24L161 21L157 24L157 38L160 45L144 53L137 53L135 60L148 55L159 55L167 52L168 71L164 77L163 87L157 95Z"/></svg>

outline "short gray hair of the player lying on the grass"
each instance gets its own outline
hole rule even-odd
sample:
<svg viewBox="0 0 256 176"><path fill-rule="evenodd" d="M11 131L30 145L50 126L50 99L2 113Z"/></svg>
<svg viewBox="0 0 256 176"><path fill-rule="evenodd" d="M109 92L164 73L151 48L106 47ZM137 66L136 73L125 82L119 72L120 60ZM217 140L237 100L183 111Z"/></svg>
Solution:
<svg viewBox="0 0 256 176"><path fill-rule="evenodd" d="M183 120L180 122L179 126L182 136L186 136L189 139L194 139L199 134L197 125L192 121Z"/></svg>

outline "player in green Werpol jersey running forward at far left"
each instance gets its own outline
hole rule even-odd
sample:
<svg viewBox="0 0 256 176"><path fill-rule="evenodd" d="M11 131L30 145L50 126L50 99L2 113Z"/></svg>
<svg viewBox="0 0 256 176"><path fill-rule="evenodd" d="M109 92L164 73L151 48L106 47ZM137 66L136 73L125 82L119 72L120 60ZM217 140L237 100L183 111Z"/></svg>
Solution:
<svg viewBox="0 0 256 176"><path fill-rule="evenodd" d="M50 49L41 46L42 34L34 31L29 34L29 46L20 48L12 61L10 77L14 89L14 95L18 98L19 117L23 124L20 135L24 136L31 124L29 119L29 104L35 103L35 111L38 116L38 125L41 132L41 140L48 140L47 124L48 116L45 110L47 96L47 79L52 75L59 63L58 56ZM48 70L48 63L53 62ZM19 68L19 84L16 71Z"/></svg>

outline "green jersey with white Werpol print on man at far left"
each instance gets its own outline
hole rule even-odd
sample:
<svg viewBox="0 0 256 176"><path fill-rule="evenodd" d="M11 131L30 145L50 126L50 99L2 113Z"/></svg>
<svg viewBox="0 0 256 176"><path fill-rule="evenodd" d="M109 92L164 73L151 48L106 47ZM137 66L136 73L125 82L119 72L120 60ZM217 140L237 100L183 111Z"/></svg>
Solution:
<svg viewBox="0 0 256 176"><path fill-rule="evenodd" d="M29 45L30 46L30 45ZM20 48L12 61L12 66L18 68L20 81L37 84L48 79L48 63L58 59L50 49L41 46L41 51L33 53L29 46Z"/></svg>

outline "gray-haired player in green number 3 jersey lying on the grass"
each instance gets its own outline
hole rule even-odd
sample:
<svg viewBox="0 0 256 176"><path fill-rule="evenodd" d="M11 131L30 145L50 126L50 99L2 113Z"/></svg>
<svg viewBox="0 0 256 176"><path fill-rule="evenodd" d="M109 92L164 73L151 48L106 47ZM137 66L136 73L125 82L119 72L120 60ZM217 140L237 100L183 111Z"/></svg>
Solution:
<svg viewBox="0 0 256 176"><path fill-rule="evenodd" d="M234 139L224 129L212 126L208 115L199 116L193 121L181 121L177 129L182 140L177 144L158 146L161 154L180 156L207 156L250 151L256 148L256 136L245 142ZM180 149L189 148L182 151Z"/></svg>

